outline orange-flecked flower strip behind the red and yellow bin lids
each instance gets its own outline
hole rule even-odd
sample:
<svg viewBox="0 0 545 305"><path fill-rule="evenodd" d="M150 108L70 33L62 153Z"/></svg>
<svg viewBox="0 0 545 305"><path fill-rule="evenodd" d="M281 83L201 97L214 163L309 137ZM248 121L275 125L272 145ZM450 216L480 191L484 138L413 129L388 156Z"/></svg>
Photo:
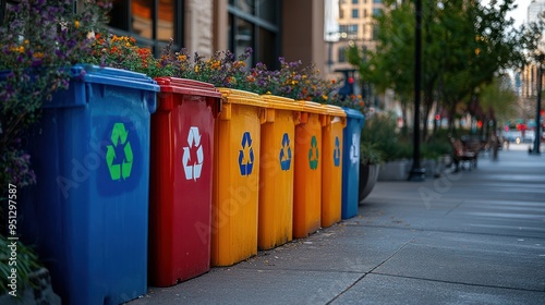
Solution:
<svg viewBox="0 0 545 305"><path fill-rule="evenodd" d="M325 102L336 89L335 82L320 77L314 64L303 66L301 61L288 62L279 58L280 70L268 70L264 63L249 69L246 60L252 49L235 58L229 51L215 52L209 59L195 52L193 59L186 49L172 52L170 44L162 52L159 65L173 76L210 83L217 87L242 89L257 94L272 94L298 100Z"/></svg>

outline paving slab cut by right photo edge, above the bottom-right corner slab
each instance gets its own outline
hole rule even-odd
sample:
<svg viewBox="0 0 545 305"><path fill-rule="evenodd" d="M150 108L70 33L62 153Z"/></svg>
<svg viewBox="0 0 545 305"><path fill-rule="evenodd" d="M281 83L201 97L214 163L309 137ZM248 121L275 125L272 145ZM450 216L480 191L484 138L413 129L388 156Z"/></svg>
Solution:
<svg viewBox="0 0 545 305"><path fill-rule="evenodd" d="M376 273L545 291L545 239L423 232Z"/></svg>

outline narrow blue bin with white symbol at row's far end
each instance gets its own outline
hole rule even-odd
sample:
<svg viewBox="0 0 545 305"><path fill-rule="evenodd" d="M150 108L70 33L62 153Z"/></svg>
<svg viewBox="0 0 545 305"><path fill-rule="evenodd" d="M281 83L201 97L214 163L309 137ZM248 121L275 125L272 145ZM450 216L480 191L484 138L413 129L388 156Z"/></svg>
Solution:
<svg viewBox="0 0 545 305"><path fill-rule="evenodd" d="M365 117L352 108L342 108L347 112L347 126L343 134L342 156L342 205L341 218L358 215L360 190L360 141Z"/></svg>

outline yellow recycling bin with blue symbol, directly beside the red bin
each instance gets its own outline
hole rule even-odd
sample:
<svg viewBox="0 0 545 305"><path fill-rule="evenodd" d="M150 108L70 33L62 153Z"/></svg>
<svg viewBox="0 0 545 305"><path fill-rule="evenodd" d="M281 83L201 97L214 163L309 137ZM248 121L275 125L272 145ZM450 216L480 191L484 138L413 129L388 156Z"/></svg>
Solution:
<svg viewBox="0 0 545 305"><path fill-rule="evenodd" d="M257 254L261 125L266 102L252 93L219 88L223 97L214 135L211 266Z"/></svg>

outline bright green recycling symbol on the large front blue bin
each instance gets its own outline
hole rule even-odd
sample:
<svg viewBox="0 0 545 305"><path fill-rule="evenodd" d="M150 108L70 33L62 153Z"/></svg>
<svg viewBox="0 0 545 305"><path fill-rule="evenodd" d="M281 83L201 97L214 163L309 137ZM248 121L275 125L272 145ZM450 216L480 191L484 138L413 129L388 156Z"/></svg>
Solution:
<svg viewBox="0 0 545 305"><path fill-rule="evenodd" d="M126 180L131 176L131 170L133 168L133 150L131 148L131 143L126 141L129 132L125 130L123 123L113 124L111 130L111 143L113 145L108 145L108 150L106 151L106 163L108 164L108 170L110 170L111 180ZM123 147L124 158L121 163L113 163L114 159L120 160L121 158L116 158L116 148L118 146ZM121 147L120 147L121 148ZM119 150L118 150L119 151Z"/></svg>

